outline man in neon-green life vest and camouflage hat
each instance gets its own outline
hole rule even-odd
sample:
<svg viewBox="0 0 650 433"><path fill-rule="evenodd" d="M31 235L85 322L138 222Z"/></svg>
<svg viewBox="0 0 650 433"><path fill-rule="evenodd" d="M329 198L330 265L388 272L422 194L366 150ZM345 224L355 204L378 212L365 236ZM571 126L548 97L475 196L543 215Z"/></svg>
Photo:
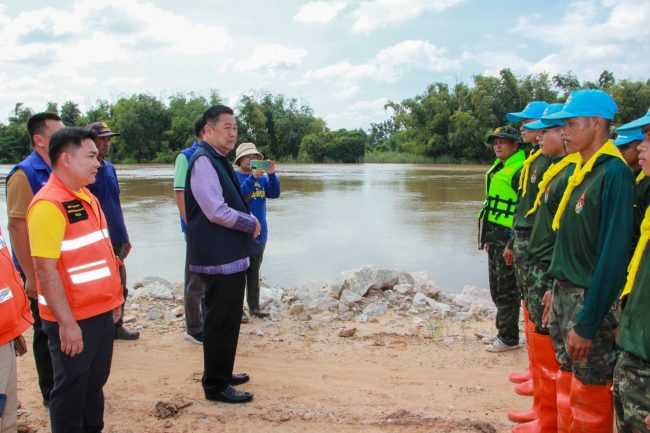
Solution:
<svg viewBox="0 0 650 433"><path fill-rule="evenodd" d="M490 294L497 307L497 338L487 350L519 348L519 294L512 264L503 251L510 239L517 204L519 172L526 155L519 149L521 136L504 126L487 137L497 157L485 174L485 202L479 214L479 248L488 253Z"/></svg>

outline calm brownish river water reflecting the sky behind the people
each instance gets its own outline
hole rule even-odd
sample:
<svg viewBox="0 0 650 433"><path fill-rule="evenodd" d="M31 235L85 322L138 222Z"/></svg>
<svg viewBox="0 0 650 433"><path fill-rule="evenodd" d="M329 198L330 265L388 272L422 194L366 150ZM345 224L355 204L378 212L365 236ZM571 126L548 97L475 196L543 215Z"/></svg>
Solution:
<svg viewBox="0 0 650 433"><path fill-rule="evenodd" d="M0 166L4 178L10 166ZM487 257L477 250L476 215L486 167L410 164L282 164L282 195L267 200L269 284L333 281L364 265L427 271L446 292L487 287ZM148 275L182 281L180 231L170 165L117 167L133 250L129 283ZM5 183L0 221L7 233Z"/></svg>

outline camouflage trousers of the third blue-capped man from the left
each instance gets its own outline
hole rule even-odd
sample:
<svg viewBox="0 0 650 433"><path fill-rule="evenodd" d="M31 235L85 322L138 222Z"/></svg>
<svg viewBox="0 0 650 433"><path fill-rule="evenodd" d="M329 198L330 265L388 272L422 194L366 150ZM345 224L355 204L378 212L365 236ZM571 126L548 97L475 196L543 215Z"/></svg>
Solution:
<svg viewBox="0 0 650 433"><path fill-rule="evenodd" d="M602 324L591 340L586 359L573 362L566 349L566 338L576 325L576 316L584 304L585 289L565 281L553 283L553 304L549 331L555 349L555 358L564 371L572 371L585 385L606 385L611 382L616 363L614 329L618 323L618 302L605 314Z"/></svg>

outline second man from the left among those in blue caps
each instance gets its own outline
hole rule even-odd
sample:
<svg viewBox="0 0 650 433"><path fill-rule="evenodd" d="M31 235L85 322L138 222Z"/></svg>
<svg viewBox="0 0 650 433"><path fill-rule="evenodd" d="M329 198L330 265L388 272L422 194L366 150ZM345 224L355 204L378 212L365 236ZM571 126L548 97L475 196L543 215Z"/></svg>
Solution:
<svg viewBox="0 0 650 433"><path fill-rule="evenodd" d="M544 116L560 111L563 104L551 104ZM558 412L556 408L556 379L559 365L555 359L553 344L544 320L544 313L550 310L553 279L547 275L553 255L555 232L551 228L553 216L567 185L567 178L573 172L578 154L566 156L560 136L561 120L531 122L526 129L537 131L541 137L541 151L551 159L538 184L539 192L527 217L533 218L528 240L528 287L526 302L533 330L528 335L531 354L531 370L534 383L533 407L528 411L508 412L508 418L524 422L513 428L513 433L551 433L557 431ZM571 380L569 378L570 386ZM568 401L568 389L566 391ZM568 407L567 407L568 409Z"/></svg>

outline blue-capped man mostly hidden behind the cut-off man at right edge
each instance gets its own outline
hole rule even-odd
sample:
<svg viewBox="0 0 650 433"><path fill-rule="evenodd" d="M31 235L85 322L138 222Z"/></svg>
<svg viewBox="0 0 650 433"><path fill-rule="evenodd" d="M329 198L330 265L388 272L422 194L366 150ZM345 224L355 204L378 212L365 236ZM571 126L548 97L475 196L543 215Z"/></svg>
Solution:
<svg viewBox="0 0 650 433"><path fill-rule="evenodd" d="M634 238L632 247L636 247L639 239L639 230L641 228L641 220L645 214L645 209L650 204L650 178L641 170L639 163L639 149L638 146L644 140L645 135L641 128L616 130L618 136L614 140L614 144L621 151L621 155L625 158L625 162L630 166L636 178L636 188L634 189Z"/></svg>

